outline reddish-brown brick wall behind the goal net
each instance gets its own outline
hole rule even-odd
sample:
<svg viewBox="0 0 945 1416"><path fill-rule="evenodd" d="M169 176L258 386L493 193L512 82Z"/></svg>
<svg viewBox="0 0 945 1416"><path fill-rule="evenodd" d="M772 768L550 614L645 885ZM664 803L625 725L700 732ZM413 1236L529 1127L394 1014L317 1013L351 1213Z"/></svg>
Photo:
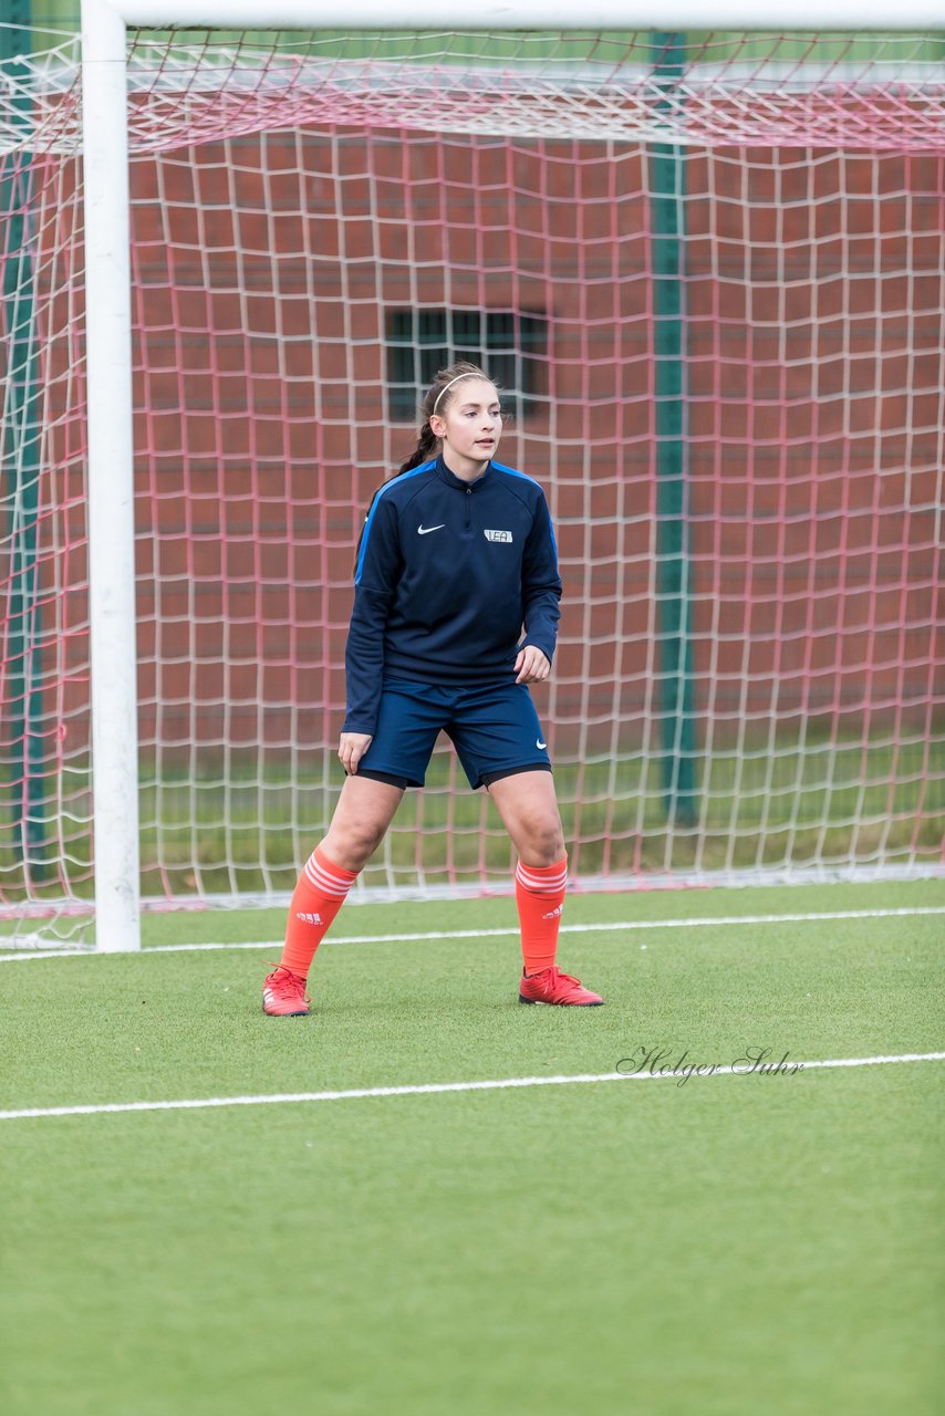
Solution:
<svg viewBox="0 0 945 1416"><path fill-rule="evenodd" d="M686 185L700 715L922 712L942 159L693 152ZM544 387L502 456L558 524L555 711L639 719L657 487L639 150L276 133L139 159L133 201L145 738L334 736L360 521L414 443L384 347L384 312L411 307L547 316Z"/></svg>

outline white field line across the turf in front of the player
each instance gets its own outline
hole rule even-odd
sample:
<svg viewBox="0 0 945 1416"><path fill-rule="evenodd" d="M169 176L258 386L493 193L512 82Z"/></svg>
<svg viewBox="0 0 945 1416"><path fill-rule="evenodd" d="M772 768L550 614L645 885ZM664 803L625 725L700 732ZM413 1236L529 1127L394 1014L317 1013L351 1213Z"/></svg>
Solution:
<svg viewBox="0 0 945 1416"><path fill-rule="evenodd" d="M747 1061L747 1059L745 1059ZM893 1062L942 1062L945 1052L902 1052L898 1056L876 1058L827 1058L815 1062L786 1062L771 1065L769 1072L798 1073L812 1072L817 1068L853 1068L853 1066L881 1066ZM765 1075L732 1063L731 1066L714 1066L713 1076L744 1076ZM445 1092L507 1092L526 1086L584 1086L589 1082L646 1082L646 1080L676 1080L680 1083L677 1069L650 1072L598 1072L578 1073L577 1076L514 1076L492 1082L426 1082L421 1086L363 1086L344 1092L283 1092L269 1096L207 1096L190 1097L177 1102L108 1102L98 1106L45 1106L30 1107L21 1112L0 1112L0 1121L45 1120L54 1116L113 1116L126 1112L200 1112L224 1106L292 1106L302 1102L357 1102L366 1097L381 1096L439 1096ZM706 1078L701 1078L704 1080Z"/></svg>

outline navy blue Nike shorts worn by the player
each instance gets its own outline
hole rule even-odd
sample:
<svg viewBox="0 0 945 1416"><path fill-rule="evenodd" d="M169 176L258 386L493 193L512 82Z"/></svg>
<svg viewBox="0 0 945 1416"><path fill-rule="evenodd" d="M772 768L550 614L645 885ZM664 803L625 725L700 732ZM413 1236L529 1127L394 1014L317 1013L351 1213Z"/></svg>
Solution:
<svg viewBox="0 0 945 1416"><path fill-rule="evenodd" d="M469 786L516 772L550 772L551 759L526 684L384 684L374 739L358 776L422 787L436 738L445 732Z"/></svg>

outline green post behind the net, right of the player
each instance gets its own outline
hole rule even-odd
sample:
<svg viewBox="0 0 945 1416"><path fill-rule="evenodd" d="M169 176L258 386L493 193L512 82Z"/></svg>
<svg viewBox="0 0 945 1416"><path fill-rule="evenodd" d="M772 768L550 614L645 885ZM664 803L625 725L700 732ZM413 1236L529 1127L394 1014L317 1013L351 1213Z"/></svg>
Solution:
<svg viewBox="0 0 945 1416"><path fill-rule="evenodd" d="M683 34L655 34L657 81L669 92L686 59ZM686 157L679 143L652 143L653 355L656 401L657 681L662 782L672 824L691 826L696 796L691 583L686 479Z"/></svg>

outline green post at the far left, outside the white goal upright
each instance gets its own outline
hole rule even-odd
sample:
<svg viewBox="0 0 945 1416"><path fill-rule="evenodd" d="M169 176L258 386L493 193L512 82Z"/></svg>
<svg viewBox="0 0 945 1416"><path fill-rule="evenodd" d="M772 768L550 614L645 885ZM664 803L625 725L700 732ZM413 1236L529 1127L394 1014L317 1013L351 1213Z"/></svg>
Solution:
<svg viewBox="0 0 945 1416"><path fill-rule="evenodd" d="M31 50L30 0L7 0L13 27L0 27L0 61L16 72L16 61ZM28 123L28 99L14 98ZM43 777L41 626L37 603L40 513L40 361L35 344L34 266L30 249L31 154L7 153L0 167L0 215L4 225L3 309L9 336L4 406L3 489L9 504L9 702L7 741L13 792L14 841L27 874L41 879L45 868L45 787Z"/></svg>

